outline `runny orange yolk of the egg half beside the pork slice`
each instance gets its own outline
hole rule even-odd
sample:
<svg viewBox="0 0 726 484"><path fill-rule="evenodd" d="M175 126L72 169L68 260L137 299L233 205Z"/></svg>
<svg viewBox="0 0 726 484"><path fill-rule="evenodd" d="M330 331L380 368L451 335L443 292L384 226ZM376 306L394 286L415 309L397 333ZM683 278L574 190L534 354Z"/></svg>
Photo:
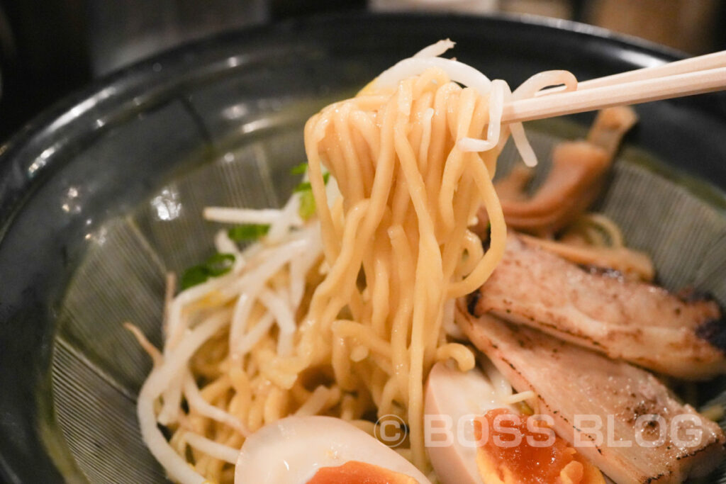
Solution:
<svg viewBox="0 0 726 484"><path fill-rule="evenodd" d="M525 417L502 419L512 414L506 409L487 412L476 421L476 438L484 441L478 448L477 463L485 483L502 484L600 484L602 473L587 462L565 440L547 427L527 428ZM484 428L488 431L486 438ZM545 431L550 433L545 433ZM521 440L519 440L521 437ZM517 440L519 440L517 442ZM534 445L532 445L534 444Z"/></svg>

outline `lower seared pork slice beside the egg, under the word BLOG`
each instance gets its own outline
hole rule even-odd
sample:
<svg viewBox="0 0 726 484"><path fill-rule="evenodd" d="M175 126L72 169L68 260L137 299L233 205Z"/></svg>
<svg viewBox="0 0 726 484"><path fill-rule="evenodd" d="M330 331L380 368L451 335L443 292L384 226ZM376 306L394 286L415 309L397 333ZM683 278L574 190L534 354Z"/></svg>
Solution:
<svg viewBox="0 0 726 484"><path fill-rule="evenodd" d="M460 325L539 414L617 484L682 483L725 456L717 424L676 401L649 372L494 316Z"/></svg>

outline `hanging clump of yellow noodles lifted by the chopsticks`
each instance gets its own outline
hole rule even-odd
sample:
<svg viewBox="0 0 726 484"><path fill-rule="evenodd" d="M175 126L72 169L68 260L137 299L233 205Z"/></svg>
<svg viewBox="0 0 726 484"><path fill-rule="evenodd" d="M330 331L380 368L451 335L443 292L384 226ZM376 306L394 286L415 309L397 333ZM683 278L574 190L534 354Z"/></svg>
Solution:
<svg viewBox="0 0 726 484"><path fill-rule="evenodd" d="M345 390L369 393L379 418L401 414L413 462L422 469L423 381L437 348L446 345L443 320L452 314L444 314L444 303L480 287L504 250L506 227L492 185L498 150L480 154L457 147L461 139L481 136L488 121L489 98L462 89L433 67L401 81L392 93L374 85L333 104L305 129L331 267L306 323L333 346L333 373ZM338 214L327 210L323 163L340 186ZM482 203L492 223L486 253L467 250L467 227ZM349 346L366 341L338 331L343 311L380 341L385 366L372 358L349 361ZM469 351L462 345L441 348L446 350L440 356ZM386 369L391 374L371 378Z"/></svg>

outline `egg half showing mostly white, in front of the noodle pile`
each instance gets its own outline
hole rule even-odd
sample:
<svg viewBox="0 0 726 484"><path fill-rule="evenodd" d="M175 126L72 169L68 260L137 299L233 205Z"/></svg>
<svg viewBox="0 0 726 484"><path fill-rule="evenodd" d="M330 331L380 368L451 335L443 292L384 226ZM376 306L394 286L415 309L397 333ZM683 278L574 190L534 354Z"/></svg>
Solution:
<svg viewBox="0 0 726 484"><path fill-rule="evenodd" d="M245 440L235 484L431 484L413 464L333 417L287 417Z"/></svg>

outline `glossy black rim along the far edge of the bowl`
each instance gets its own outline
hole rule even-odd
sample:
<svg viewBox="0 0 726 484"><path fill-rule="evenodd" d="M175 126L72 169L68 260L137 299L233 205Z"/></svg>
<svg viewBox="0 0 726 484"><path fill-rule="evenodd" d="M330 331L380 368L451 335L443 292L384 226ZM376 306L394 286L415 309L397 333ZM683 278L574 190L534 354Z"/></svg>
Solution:
<svg viewBox="0 0 726 484"><path fill-rule="evenodd" d="M510 24L518 28L542 29L550 33L571 38L595 38L611 46L620 46L641 54L640 59L631 60L633 68L646 67L653 62L669 62L687 57L683 52L668 46L647 41L643 38L615 33L605 28L572 20L560 20L527 14L497 13L469 16L460 14L431 14L425 12L356 12L311 15L266 25L256 25L239 30L229 30L207 38L190 41L139 62L121 67L112 73L91 81L87 86L60 99L40 112L20 130L0 145L0 240L8 223L22 205L24 193L31 191L34 184L52 171L56 160L54 152L48 155L49 146L54 146L52 136L61 131L70 131L70 136L80 135L70 129L94 117L94 112L118 109L118 103L129 97L147 97L144 93L163 89L166 83L189 82L197 75L210 73L185 72L183 67L197 57L225 45L254 41L255 38L274 36L275 32L314 28L327 22L356 20L360 22L465 22L481 25ZM633 62L636 61L636 62ZM637 62L639 61L639 62ZM168 87L168 86L166 86ZM140 99L150 102L152 99ZM138 104L142 107L142 104ZM103 126L88 126L96 131ZM60 147L62 148L62 147ZM45 155L44 155L45 154ZM47 158L52 160L47 161ZM46 160L40 167L28 174L32 168L30 160ZM20 176L20 178L19 178Z"/></svg>

